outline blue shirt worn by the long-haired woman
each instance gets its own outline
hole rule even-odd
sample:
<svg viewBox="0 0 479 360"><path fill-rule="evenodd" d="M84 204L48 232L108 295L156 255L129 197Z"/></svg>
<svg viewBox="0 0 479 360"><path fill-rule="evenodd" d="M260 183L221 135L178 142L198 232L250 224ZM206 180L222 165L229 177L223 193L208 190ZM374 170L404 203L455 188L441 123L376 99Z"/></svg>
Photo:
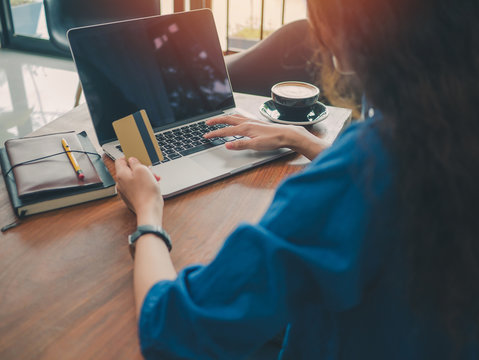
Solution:
<svg viewBox="0 0 479 360"><path fill-rule="evenodd" d="M145 358L245 358L285 328L276 358L447 354L434 322L408 306L393 162L375 130L380 114L365 115L284 181L259 223L239 225L211 264L151 288Z"/></svg>

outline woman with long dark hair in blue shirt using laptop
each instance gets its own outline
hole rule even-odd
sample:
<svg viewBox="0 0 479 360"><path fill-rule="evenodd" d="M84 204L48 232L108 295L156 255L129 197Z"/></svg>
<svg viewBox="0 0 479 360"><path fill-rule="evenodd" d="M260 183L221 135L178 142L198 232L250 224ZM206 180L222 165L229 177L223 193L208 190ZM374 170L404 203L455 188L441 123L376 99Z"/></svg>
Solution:
<svg viewBox="0 0 479 360"><path fill-rule="evenodd" d="M335 63L364 89L365 121L326 150L301 128L234 118L209 135L313 161L208 266L177 275L162 239L140 237L143 354L243 358L280 333L281 358L477 358L479 3L308 6L326 72ZM117 176L138 224L161 225L161 182L134 159Z"/></svg>

